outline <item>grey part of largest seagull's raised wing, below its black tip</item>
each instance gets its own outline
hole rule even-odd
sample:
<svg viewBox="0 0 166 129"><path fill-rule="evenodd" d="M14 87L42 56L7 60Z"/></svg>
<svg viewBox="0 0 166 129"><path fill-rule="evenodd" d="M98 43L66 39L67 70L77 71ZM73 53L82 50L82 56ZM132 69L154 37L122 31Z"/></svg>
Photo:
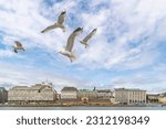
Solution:
<svg viewBox="0 0 166 129"><path fill-rule="evenodd" d="M75 33L72 33L68 39L65 51L69 51L69 52L72 51L73 45L74 45L74 40L75 40Z"/></svg>

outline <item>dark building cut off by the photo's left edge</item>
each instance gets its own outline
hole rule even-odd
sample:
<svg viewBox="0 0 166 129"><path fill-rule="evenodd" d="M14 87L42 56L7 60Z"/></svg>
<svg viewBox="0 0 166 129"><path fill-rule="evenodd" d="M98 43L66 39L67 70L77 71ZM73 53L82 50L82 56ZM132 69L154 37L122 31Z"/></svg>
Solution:
<svg viewBox="0 0 166 129"><path fill-rule="evenodd" d="M4 87L0 87L0 104L8 101L8 90Z"/></svg>

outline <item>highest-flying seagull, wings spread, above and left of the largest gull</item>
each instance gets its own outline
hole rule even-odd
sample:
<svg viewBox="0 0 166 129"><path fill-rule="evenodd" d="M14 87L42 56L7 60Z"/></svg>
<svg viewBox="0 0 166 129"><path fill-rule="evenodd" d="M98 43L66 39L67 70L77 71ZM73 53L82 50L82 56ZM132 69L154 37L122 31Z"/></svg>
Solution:
<svg viewBox="0 0 166 129"><path fill-rule="evenodd" d="M55 28L60 28L62 29L63 32L65 32L65 26L64 26L64 18L66 17L66 11L61 12L61 14L59 15L58 22L55 22L54 24L45 28L43 31L41 31L41 33L44 33L46 31L53 30Z"/></svg>

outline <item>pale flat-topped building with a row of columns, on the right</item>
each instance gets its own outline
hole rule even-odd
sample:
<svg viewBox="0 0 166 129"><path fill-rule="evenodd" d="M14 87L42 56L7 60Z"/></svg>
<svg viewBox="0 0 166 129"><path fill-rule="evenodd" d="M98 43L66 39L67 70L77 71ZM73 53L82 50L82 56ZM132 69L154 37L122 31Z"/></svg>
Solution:
<svg viewBox="0 0 166 129"><path fill-rule="evenodd" d="M115 88L115 101L126 105L145 105L146 90Z"/></svg>

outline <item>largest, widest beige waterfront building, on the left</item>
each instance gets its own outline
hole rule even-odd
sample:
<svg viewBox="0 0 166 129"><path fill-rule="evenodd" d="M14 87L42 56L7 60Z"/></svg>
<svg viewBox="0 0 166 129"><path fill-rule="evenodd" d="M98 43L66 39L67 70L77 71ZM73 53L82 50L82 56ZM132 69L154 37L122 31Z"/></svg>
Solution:
<svg viewBox="0 0 166 129"><path fill-rule="evenodd" d="M8 101L54 103L56 100L56 95L52 84L49 83L35 84L31 87L15 86L9 89Z"/></svg>

